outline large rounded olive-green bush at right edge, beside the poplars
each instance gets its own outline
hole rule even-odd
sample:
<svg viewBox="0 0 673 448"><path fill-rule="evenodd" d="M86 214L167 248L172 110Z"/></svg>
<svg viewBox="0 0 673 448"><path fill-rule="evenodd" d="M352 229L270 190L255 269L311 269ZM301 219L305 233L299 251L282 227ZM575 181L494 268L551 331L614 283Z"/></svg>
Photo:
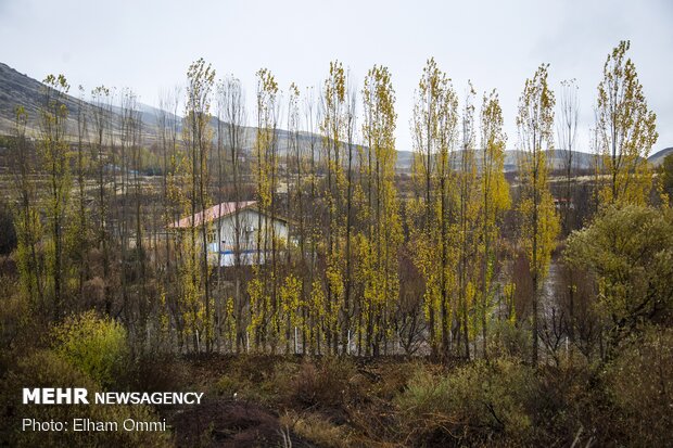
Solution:
<svg viewBox="0 0 673 448"><path fill-rule="evenodd" d="M573 232L567 263L596 279L597 308L608 325L607 357L639 324L670 325L673 315L673 212L628 205L607 207Z"/></svg>

